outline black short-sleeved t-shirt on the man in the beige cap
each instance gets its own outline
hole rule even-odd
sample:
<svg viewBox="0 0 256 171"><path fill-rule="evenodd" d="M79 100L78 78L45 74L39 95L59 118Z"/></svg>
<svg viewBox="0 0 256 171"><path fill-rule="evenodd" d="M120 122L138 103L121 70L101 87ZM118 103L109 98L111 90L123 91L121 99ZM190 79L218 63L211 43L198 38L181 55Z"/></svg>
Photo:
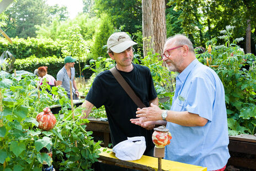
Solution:
<svg viewBox="0 0 256 171"><path fill-rule="evenodd" d="M157 98L150 70L145 66L136 64L133 66L134 69L131 72L119 72L141 101L149 106L149 101ZM146 151L154 146L152 142L153 130L148 131L131 123L130 119L136 118L138 107L109 70L103 71L95 77L86 100L90 101L96 108L105 106L113 146L127 140L127 137L134 136L145 137Z"/></svg>

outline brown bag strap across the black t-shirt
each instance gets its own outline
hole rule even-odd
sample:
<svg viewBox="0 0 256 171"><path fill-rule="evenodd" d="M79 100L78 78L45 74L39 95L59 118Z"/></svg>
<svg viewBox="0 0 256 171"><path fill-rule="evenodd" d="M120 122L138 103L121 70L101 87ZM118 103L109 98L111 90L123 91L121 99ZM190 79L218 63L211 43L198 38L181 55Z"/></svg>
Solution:
<svg viewBox="0 0 256 171"><path fill-rule="evenodd" d="M118 81L118 83L122 86L125 92L134 101L134 103L141 109L146 108L146 105L143 104L141 99L137 97L134 90L132 90L129 84L125 81L124 77L121 76L120 72L116 69L116 67L111 68L109 71L113 74L116 81Z"/></svg>

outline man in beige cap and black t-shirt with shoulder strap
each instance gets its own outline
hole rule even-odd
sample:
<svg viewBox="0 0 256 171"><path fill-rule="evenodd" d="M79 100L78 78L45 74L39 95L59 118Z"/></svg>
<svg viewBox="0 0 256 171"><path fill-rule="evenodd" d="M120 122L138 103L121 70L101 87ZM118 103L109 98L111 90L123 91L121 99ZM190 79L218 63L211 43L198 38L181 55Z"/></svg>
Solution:
<svg viewBox="0 0 256 171"><path fill-rule="evenodd" d="M126 33L118 32L109 37L107 45L107 52L115 60L116 69L141 101L146 106L149 106L150 103L158 104L149 68L132 63L134 57L132 45L137 45L137 43L132 41ZM152 131L131 124L130 119L135 117L138 107L109 70L103 71L95 77L86 100L82 104L86 108L84 117L88 117L93 106L100 108L102 105L105 106L108 116L113 146L127 140L127 137L144 136L147 147L144 154L152 156L154 147Z"/></svg>

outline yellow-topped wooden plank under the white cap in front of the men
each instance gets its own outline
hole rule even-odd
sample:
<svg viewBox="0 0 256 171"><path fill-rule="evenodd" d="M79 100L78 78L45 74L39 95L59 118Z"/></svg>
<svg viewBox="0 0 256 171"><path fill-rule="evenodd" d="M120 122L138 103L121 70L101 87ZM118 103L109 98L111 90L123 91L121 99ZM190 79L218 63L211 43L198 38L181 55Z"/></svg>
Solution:
<svg viewBox="0 0 256 171"><path fill-rule="evenodd" d="M105 148L100 148L102 153L99 154L99 161L103 161L105 163L119 165L121 167L128 167L133 169L140 169L140 170L156 170L158 168L158 158L150 157L150 156L142 156L141 159L136 161L121 161L120 159L115 157L115 153L112 152L112 149L107 148L104 152ZM190 171L206 171L207 168L200 167L198 165L192 164L185 164L180 162L173 162L168 161L166 159L162 159L162 170L172 170L172 171L183 171L183 170L190 170Z"/></svg>

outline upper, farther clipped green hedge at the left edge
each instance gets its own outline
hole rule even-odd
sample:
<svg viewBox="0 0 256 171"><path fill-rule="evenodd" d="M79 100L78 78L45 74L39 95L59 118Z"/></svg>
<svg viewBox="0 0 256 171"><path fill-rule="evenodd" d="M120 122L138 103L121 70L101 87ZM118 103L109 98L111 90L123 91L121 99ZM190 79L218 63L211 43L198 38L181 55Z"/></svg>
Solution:
<svg viewBox="0 0 256 171"><path fill-rule="evenodd" d="M8 50L16 59L23 59L35 55L38 58L45 56L62 57L61 49L67 43L66 40L54 41L52 39L12 39L13 44L10 44L6 39L0 38L0 53ZM0 54L0 55L1 55Z"/></svg>

